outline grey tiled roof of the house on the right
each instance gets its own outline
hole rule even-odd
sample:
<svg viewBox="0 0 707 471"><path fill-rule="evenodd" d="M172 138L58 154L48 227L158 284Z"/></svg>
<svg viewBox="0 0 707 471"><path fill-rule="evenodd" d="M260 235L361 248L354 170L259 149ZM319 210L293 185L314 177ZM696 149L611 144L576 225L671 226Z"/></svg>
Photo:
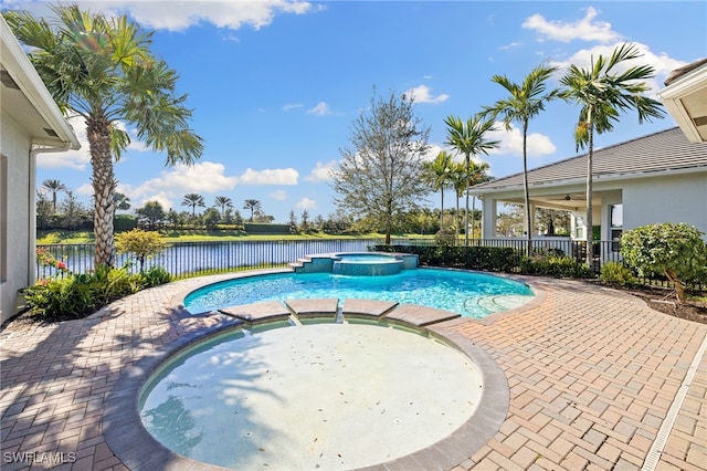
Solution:
<svg viewBox="0 0 707 471"><path fill-rule="evenodd" d="M636 178L666 171L707 171L707 145L690 143L679 127L594 150L592 175L602 178ZM587 154L528 171L530 187L581 181L587 178ZM523 187L523 172L475 186L475 195Z"/></svg>

